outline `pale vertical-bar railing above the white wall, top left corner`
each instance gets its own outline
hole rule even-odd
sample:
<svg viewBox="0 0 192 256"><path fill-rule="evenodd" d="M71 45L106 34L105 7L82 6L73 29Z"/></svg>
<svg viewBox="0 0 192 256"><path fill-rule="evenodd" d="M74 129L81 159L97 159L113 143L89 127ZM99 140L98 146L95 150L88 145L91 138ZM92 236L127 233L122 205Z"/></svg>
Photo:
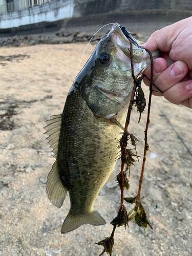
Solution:
<svg viewBox="0 0 192 256"><path fill-rule="evenodd" d="M12 11L23 10L36 5L42 5L51 0L18 0L8 4L0 5L0 14Z"/></svg>

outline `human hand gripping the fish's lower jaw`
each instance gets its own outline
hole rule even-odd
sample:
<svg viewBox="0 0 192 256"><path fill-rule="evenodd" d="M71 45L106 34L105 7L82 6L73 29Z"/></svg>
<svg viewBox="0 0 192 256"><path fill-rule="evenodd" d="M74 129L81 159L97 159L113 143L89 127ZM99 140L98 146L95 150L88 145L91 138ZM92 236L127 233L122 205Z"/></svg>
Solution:
<svg viewBox="0 0 192 256"><path fill-rule="evenodd" d="M154 60L153 81L163 93L153 92L153 95L164 96L172 103L192 109L191 24L192 17L189 17L157 30L144 46L150 51L162 51L161 57ZM150 77L151 67L144 74ZM143 80L147 86L150 85L146 78Z"/></svg>

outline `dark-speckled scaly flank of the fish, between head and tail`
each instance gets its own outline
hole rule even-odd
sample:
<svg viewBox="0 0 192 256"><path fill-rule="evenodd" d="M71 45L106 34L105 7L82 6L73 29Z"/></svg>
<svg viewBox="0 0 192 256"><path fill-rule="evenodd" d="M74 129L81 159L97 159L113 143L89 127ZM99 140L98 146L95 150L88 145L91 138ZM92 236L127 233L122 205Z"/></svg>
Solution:
<svg viewBox="0 0 192 256"><path fill-rule="evenodd" d="M68 101L66 101L67 108L64 109L62 116L58 146L58 151L61 153L57 158L57 162L60 175L66 175L70 180L70 182L67 180L62 182L68 188L72 199L78 194L78 187L81 190L83 186L93 185L92 190L95 190L96 187L96 194L98 194L98 187L102 187L108 179L111 173L111 165L114 166L115 164L114 160L118 152L117 140L120 139L121 129L108 119L102 118L100 120L100 118L95 117L79 92L72 93ZM79 106L78 113L73 111L69 114L70 104ZM67 121L66 116L70 116ZM72 126L73 129L69 129ZM108 140L109 144L106 145L104 142ZM74 157L80 159L80 161L74 161ZM69 162L73 162L73 165L69 165ZM77 177L77 173L81 175ZM81 184L81 186L76 183ZM76 187L75 192L73 190L74 186ZM83 195L83 201L88 200L86 196L90 198L88 194ZM86 213L86 206L82 206L84 204L83 201L81 202L78 198L75 205L81 205L81 208Z"/></svg>

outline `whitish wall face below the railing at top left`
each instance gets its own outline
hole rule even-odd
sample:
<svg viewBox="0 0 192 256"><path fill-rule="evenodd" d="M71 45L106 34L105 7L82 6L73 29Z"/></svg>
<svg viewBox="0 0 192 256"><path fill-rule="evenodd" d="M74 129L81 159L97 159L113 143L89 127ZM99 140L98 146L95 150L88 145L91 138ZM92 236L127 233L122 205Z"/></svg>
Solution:
<svg viewBox="0 0 192 256"><path fill-rule="evenodd" d="M0 14L0 29L40 22L55 22L56 20L72 17L73 10L73 0L52 0L51 2L29 7L24 10Z"/></svg>

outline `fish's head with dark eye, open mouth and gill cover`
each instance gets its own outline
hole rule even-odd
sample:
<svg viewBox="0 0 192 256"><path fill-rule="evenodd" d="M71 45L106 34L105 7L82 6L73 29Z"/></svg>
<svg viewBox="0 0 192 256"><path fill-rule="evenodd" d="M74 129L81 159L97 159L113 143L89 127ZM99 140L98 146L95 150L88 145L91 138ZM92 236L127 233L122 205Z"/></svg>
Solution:
<svg viewBox="0 0 192 256"><path fill-rule="evenodd" d="M137 78L150 65L150 55L133 42L134 74ZM153 58L159 52L153 52ZM80 90L95 116L116 118L126 109L131 99L134 81L130 59L130 41L120 25L98 43L90 59L77 75L72 91Z"/></svg>

